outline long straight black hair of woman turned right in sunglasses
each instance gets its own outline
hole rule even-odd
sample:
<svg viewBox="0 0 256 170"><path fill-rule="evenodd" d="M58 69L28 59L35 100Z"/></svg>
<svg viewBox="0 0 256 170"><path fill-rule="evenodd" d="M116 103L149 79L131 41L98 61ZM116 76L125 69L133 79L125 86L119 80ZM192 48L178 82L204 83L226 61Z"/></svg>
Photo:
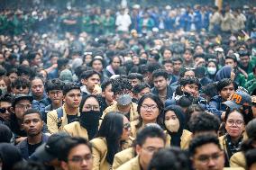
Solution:
<svg viewBox="0 0 256 170"><path fill-rule="evenodd" d="M104 137L106 140L106 160L112 165L114 155L120 149L120 139L123 134L123 114L119 112L108 112L98 130L97 137Z"/></svg>

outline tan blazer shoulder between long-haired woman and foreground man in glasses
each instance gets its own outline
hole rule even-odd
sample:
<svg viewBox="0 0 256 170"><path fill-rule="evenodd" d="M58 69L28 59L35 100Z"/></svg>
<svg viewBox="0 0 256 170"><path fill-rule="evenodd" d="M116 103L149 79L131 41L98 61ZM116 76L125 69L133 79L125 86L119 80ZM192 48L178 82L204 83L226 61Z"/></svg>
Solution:
<svg viewBox="0 0 256 170"><path fill-rule="evenodd" d="M122 166L124 163L135 157L134 148L126 148L114 155L113 169Z"/></svg>

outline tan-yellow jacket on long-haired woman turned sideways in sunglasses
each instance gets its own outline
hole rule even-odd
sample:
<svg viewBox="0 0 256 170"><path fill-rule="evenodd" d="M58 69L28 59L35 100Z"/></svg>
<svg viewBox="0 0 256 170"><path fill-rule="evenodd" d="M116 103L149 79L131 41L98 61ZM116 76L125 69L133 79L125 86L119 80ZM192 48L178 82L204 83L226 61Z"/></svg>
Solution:
<svg viewBox="0 0 256 170"><path fill-rule="evenodd" d="M109 170L110 164L106 161L107 146L105 138L96 138L90 141L93 147L93 170ZM132 138L123 142L121 148L130 148L132 146Z"/></svg>

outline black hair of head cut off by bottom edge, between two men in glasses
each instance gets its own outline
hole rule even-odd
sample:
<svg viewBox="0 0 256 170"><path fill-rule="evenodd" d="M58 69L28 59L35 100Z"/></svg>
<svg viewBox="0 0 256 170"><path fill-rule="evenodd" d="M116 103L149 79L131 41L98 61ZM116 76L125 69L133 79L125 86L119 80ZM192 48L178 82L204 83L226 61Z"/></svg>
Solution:
<svg viewBox="0 0 256 170"><path fill-rule="evenodd" d="M171 161L169 161L171 160ZM189 157L180 148L162 148L151 158L149 170L189 170Z"/></svg>

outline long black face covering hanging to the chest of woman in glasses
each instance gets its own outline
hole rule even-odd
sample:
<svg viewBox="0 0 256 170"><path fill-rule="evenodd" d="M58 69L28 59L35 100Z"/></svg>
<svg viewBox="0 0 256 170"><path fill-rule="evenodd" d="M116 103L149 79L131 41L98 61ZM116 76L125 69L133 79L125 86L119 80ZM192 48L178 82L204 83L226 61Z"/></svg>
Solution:
<svg viewBox="0 0 256 170"><path fill-rule="evenodd" d="M87 130L89 139L92 139L96 135L99 118L99 111L81 112L79 122L80 125Z"/></svg>

